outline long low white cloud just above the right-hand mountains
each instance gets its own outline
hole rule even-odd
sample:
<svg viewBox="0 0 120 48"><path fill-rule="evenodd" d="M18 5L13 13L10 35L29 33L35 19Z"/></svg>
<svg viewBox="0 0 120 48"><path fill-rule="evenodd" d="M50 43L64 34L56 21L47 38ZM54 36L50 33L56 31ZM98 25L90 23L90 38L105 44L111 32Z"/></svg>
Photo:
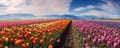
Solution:
<svg viewBox="0 0 120 48"><path fill-rule="evenodd" d="M98 16L98 17L108 17L108 18L113 18L113 19L120 18L118 14L111 14L111 13L99 11L99 10L90 10L88 12L80 14L80 16L86 16L86 15L92 15L92 16Z"/></svg>

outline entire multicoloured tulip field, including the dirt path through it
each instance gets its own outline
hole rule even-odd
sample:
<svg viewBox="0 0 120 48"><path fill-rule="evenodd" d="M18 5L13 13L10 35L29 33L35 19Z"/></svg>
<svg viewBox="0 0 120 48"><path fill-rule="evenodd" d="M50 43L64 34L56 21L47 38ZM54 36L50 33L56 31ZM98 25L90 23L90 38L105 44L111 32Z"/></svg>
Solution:
<svg viewBox="0 0 120 48"><path fill-rule="evenodd" d="M120 48L120 22L4 21L0 22L0 48Z"/></svg>

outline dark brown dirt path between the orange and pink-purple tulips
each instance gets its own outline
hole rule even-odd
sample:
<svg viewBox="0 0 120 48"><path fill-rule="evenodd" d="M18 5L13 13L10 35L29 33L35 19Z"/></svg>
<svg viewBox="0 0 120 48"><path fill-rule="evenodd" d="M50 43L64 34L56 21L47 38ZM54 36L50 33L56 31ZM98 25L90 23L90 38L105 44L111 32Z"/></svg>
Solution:
<svg viewBox="0 0 120 48"><path fill-rule="evenodd" d="M56 46L55 48L79 48L75 38L75 34L72 30L72 24L67 27L61 38L61 45Z"/></svg>

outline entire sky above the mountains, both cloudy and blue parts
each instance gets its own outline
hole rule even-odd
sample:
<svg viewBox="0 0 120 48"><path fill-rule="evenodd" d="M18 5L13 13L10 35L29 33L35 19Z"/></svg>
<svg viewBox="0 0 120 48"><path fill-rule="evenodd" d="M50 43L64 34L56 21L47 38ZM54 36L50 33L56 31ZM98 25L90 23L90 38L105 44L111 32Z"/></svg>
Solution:
<svg viewBox="0 0 120 48"><path fill-rule="evenodd" d="M0 0L0 15L24 13L120 18L120 0Z"/></svg>

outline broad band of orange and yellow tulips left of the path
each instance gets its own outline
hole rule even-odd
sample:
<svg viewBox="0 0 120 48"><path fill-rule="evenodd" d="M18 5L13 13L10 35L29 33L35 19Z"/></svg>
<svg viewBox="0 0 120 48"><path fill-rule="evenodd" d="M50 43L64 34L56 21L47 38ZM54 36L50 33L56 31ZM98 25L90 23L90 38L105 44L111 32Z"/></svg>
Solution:
<svg viewBox="0 0 120 48"><path fill-rule="evenodd" d="M70 20L9 26L0 29L0 48L53 48Z"/></svg>

